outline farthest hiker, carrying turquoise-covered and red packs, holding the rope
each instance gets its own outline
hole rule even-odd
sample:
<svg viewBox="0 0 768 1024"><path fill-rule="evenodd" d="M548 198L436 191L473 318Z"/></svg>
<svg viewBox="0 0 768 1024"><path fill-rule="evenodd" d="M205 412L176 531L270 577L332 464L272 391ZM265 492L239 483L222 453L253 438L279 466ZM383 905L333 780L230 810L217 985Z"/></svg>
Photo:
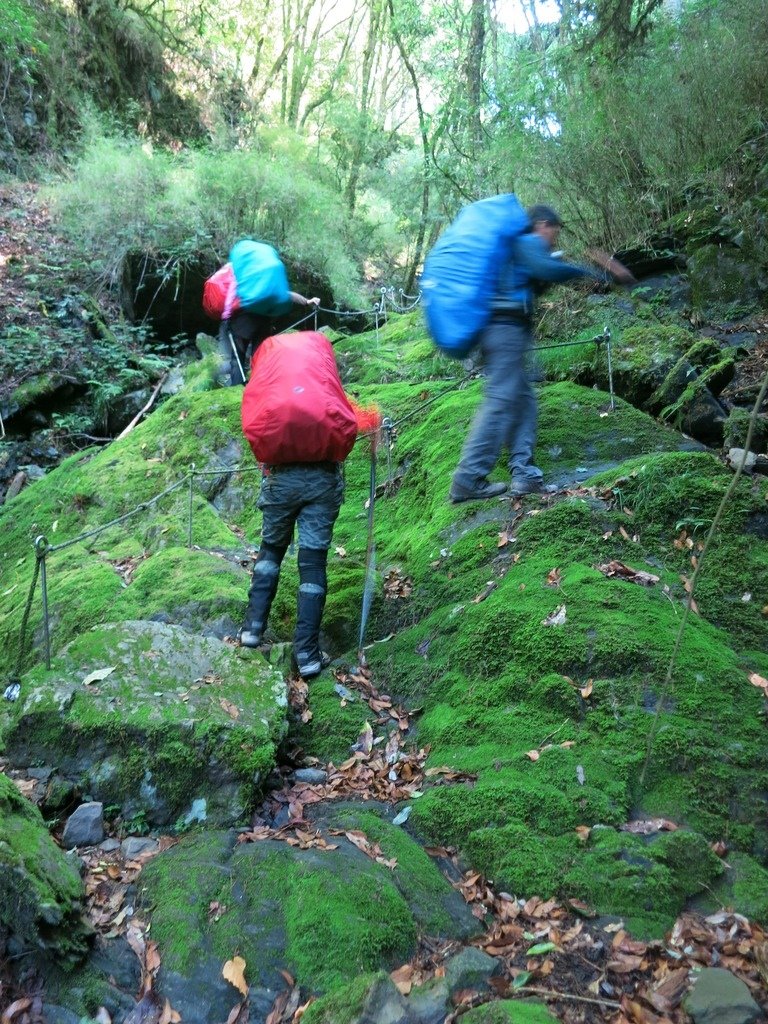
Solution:
<svg viewBox="0 0 768 1024"><path fill-rule="evenodd" d="M203 286L203 308L221 318L219 343L229 360L229 384L245 384L248 351L274 332L274 319L292 306L318 306L288 286L286 268L276 251L264 242L242 239L229 262Z"/></svg>

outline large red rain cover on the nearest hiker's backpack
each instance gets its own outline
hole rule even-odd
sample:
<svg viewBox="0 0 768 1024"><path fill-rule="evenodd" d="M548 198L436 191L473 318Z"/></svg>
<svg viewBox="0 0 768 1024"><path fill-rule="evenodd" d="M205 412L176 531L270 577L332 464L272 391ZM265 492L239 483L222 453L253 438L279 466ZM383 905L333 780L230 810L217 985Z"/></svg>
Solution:
<svg viewBox="0 0 768 1024"><path fill-rule="evenodd" d="M331 343L318 331L263 341L243 394L243 432L259 462L343 462L357 418L344 394Z"/></svg>

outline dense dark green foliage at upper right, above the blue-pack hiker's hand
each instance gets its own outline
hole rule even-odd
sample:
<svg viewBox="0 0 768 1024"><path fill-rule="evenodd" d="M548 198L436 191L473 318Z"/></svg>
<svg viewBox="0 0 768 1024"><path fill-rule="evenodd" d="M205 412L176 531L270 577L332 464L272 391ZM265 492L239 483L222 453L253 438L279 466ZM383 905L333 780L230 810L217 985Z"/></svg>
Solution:
<svg viewBox="0 0 768 1024"><path fill-rule="evenodd" d="M659 20L618 62L585 60L574 40L573 48L552 47L551 81L538 62L528 66L529 80L541 82L530 117L538 110L550 130L508 122L504 141L525 153L522 191L556 197L583 238L597 230L621 245L683 206L687 213L691 199L737 210L732 175L740 146L764 130L762 0L685 7L680 20ZM513 67L517 75L519 63ZM520 86L508 88L514 94ZM736 220L759 234L754 218L751 224L736 213Z"/></svg>

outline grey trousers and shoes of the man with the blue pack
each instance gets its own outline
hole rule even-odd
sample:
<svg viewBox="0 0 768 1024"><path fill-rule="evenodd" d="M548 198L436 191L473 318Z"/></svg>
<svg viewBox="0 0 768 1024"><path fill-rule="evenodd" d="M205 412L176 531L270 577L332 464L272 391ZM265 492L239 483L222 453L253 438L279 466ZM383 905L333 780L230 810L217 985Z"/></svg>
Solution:
<svg viewBox="0 0 768 1024"><path fill-rule="evenodd" d="M532 462L538 410L525 368L532 341L529 326L520 321L496 317L485 329L480 339L485 394L454 474L455 486L472 489L484 480L505 445L516 482L542 478Z"/></svg>

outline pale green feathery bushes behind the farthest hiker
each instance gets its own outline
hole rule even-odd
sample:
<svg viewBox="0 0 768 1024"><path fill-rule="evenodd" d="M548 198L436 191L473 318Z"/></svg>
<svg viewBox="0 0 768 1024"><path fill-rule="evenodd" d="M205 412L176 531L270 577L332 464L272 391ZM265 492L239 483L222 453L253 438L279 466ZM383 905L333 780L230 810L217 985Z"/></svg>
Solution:
<svg viewBox="0 0 768 1024"><path fill-rule="evenodd" d="M139 138L93 134L70 180L55 189L68 229L100 253L103 276L117 281L127 253L162 258L166 276L201 254L223 261L240 237L274 245L293 273L325 283L336 301L365 301L361 259L402 244L382 234L375 205L356 219L306 144L264 131L251 152L199 150L174 156ZM384 218L386 220L386 217Z"/></svg>

